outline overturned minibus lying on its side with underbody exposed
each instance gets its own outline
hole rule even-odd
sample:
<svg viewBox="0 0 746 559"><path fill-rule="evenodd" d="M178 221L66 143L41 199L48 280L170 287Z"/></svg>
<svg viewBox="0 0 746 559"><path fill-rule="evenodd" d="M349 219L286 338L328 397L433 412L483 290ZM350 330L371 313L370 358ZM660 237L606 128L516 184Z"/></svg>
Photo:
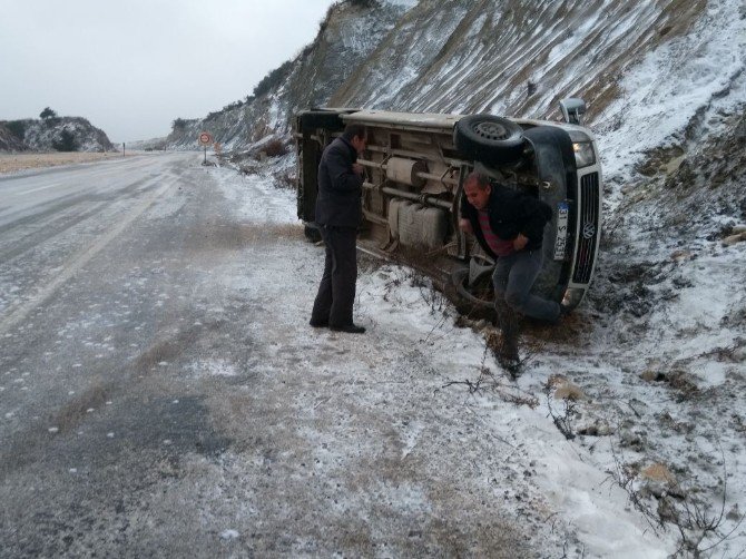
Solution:
<svg viewBox="0 0 746 559"><path fill-rule="evenodd" d="M552 207L533 292L576 307L598 255L601 168L595 137L581 126L585 104L566 99L560 106L563 122L349 108L300 112L297 208L306 236L320 238L314 210L322 151L347 124L362 124L360 249L420 268L461 303L490 307L494 262L459 228L463 180L478 170Z"/></svg>

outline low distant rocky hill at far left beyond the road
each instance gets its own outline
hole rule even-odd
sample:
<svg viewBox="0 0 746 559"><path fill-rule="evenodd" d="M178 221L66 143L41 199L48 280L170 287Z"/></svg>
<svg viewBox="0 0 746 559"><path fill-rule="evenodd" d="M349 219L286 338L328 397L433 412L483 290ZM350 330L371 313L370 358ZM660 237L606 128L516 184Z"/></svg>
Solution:
<svg viewBox="0 0 746 559"><path fill-rule="evenodd" d="M0 121L0 151L112 151L106 133L81 117Z"/></svg>

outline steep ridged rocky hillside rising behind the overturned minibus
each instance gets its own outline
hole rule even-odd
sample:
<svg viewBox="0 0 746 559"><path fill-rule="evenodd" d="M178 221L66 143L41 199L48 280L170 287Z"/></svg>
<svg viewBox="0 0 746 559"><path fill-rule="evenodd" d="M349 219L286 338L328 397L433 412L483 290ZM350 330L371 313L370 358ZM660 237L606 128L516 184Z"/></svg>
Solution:
<svg viewBox="0 0 746 559"><path fill-rule="evenodd" d="M287 137L295 111L322 105L553 118L559 99L580 96L591 124L612 126L625 73L652 51L696 53L681 40L706 32L719 3L342 1L257 95L180 120L168 145L195 147L202 130L227 149L261 145Z"/></svg>

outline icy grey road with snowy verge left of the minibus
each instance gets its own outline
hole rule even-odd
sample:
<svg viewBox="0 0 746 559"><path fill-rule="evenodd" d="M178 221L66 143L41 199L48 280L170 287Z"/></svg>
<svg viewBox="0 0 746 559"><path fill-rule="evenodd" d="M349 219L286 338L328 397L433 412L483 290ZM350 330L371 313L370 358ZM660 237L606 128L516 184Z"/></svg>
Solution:
<svg viewBox="0 0 746 559"><path fill-rule="evenodd" d="M0 178L1 557L667 555L406 269L308 327L293 194L200 158Z"/></svg>

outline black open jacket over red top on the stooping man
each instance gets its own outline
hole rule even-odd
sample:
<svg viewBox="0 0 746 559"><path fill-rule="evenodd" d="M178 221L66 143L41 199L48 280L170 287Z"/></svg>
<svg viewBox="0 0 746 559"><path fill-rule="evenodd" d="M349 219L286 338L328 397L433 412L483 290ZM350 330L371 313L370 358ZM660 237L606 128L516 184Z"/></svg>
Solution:
<svg viewBox="0 0 746 559"><path fill-rule="evenodd" d="M498 183L491 183L492 190L487 205L490 218L490 228L503 241L514 239L519 233L528 237L524 251L536 251L541 247L544 225L552 218L552 208L539 198L523 194ZM484 252L497 257L490 249L482 227L479 224L479 210L467 202L462 192L461 217L469 219L471 228Z"/></svg>

